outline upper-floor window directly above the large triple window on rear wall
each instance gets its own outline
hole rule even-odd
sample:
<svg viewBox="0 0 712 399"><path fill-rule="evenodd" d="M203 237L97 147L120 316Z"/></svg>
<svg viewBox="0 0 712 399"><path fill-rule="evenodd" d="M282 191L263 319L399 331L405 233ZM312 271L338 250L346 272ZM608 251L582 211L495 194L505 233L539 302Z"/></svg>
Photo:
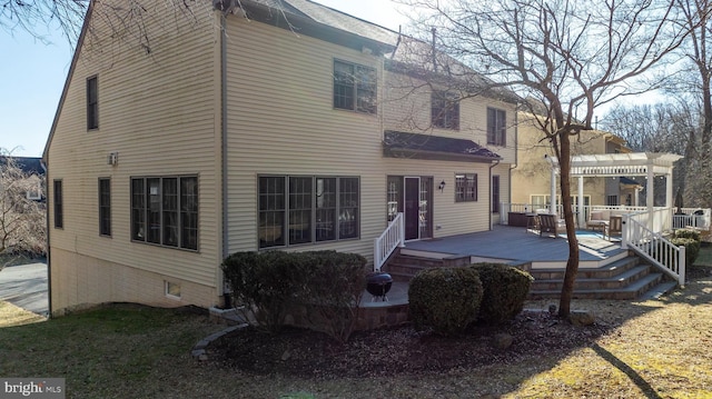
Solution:
<svg viewBox="0 0 712 399"><path fill-rule="evenodd" d="M335 60L334 108L376 113L376 69Z"/></svg>

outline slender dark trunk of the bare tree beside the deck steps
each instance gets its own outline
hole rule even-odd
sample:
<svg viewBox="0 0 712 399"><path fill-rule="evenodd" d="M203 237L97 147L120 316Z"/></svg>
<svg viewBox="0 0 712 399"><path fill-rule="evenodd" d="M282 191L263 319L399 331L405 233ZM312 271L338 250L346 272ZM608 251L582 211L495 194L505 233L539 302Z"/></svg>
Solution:
<svg viewBox="0 0 712 399"><path fill-rule="evenodd" d="M578 272L578 240L576 239L576 226L571 206L571 139L567 129L562 129L558 133L561 153L558 167L561 172L561 197L564 209L564 220L566 221L566 238L568 239L568 260L566 261L566 272L564 285L561 289L558 302L558 316L568 317L571 312L571 299L574 293L574 282Z"/></svg>

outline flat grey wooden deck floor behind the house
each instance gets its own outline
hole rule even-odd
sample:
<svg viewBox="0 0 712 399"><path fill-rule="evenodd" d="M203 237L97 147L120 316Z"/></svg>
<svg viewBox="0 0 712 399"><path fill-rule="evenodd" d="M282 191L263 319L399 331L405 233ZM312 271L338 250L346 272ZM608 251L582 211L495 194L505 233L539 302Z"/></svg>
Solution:
<svg viewBox="0 0 712 399"><path fill-rule="evenodd" d="M619 241L603 239L600 231L581 230L576 238L580 268L597 268L627 255ZM531 261L533 268L563 268L568 259L565 233L558 238L540 237L523 227L498 225L491 231L406 242L404 250L427 252L433 257L471 256L475 261Z"/></svg>

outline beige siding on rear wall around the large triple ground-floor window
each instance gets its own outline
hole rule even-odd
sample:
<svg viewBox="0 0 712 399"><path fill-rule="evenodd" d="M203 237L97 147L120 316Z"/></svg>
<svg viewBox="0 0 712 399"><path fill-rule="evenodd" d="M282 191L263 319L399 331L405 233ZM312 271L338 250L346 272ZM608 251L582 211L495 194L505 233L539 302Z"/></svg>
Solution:
<svg viewBox="0 0 712 399"><path fill-rule="evenodd" d="M227 34L229 251L258 247L258 176L289 174L360 178L360 239L289 249L373 255L386 226L379 117L333 108L333 64L382 60L239 18Z"/></svg>

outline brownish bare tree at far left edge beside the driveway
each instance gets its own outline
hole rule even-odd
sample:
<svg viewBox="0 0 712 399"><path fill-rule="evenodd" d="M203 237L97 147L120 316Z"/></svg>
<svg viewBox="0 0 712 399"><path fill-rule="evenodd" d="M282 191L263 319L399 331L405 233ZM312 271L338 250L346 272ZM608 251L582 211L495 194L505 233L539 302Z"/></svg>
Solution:
<svg viewBox="0 0 712 399"><path fill-rule="evenodd" d="M43 178L0 149L0 269L16 257L47 251Z"/></svg>

